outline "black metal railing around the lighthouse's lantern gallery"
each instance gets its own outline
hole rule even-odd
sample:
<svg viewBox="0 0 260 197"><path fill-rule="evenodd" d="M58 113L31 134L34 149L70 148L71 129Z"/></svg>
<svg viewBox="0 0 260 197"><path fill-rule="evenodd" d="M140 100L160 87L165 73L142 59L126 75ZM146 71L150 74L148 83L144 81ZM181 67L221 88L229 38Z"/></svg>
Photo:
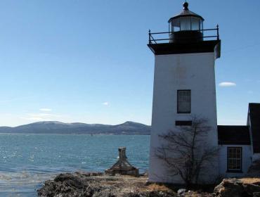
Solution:
<svg viewBox="0 0 260 197"><path fill-rule="evenodd" d="M219 40L219 25L216 25L215 29L206 29L206 30L198 30L198 32L202 32L202 37L193 37L193 39L203 39L203 40L209 40L209 39L216 39ZM210 34L214 32L214 35ZM156 32L151 33L149 30L149 44L158 44L158 43L166 43L166 42L174 42L174 41L181 41L183 39L190 39L190 37L178 37L178 38L171 38L169 37L169 34L172 34L174 32ZM168 38L164 38L165 34L168 34ZM156 37L155 37L156 36Z"/></svg>

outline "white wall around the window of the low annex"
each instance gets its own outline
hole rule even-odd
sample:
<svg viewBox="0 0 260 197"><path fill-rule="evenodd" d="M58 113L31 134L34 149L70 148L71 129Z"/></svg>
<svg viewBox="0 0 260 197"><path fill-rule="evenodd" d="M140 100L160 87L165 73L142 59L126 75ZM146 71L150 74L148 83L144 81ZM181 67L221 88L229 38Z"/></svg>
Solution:
<svg viewBox="0 0 260 197"><path fill-rule="evenodd" d="M228 147L242 147L242 173L227 172ZM221 177L242 177L252 164L252 148L250 145L219 145L219 173Z"/></svg>

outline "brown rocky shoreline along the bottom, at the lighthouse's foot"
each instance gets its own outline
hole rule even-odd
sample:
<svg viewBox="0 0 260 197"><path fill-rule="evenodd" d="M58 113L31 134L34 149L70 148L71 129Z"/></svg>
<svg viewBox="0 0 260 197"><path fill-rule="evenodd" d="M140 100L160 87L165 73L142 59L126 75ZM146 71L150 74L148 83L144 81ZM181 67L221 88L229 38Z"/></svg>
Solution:
<svg viewBox="0 0 260 197"><path fill-rule="evenodd" d="M259 185L259 178L223 179L211 192L201 189L186 191L167 184L148 184L144 175L131 177L119 174L111 176L101 172L74 172L58 174L55 179L46 181L37 193L41 197L256 197L260 196Z"/></svg>

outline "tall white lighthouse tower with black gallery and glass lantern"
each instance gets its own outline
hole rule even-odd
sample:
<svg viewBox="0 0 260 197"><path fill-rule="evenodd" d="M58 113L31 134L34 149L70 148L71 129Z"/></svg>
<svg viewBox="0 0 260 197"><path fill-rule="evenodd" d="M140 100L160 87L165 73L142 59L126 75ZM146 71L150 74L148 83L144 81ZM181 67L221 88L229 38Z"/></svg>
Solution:
<svg viewBox="0 0 260 197"><path fill-rule="evenodd" d="M214 65L221 41L219 27L206 30L203 21L184 3L183 11L169 19L169 32L149 31L148 47L155 54L149 182L182 183L155 152L166 143L160 135L191 125L192 117L207 118L211 129L205 144L218 147ZM219 175L217 160L203 182Z"/></svg>

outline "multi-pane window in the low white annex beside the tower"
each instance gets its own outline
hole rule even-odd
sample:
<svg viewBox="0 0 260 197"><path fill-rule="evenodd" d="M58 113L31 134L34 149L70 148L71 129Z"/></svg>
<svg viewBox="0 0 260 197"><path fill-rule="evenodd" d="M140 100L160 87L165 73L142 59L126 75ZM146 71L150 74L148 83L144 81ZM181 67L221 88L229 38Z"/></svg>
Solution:
<svg viewBox="0 0 260 197"><path fill-rule="evenodd" d="M242 148L228 147L228 171L241 172L242 170Z"/></svg>

